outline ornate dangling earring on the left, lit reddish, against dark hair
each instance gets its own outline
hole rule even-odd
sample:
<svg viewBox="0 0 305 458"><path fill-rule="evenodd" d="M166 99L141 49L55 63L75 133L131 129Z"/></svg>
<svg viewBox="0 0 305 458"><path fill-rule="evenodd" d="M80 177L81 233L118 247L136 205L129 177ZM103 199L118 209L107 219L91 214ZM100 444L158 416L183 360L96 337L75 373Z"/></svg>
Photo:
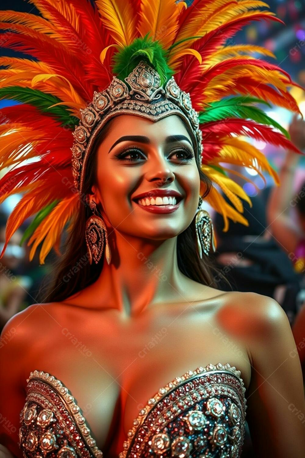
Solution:
<svg viewBox="0 0 305 458"><path fill-rule="evenodd" d="M89 262L92 264L92 257L97 264L104 251L104 239L106 243L105 256L107 264L111 261L111 251L108 244L107 228L104 221L96 214L96 203L92 201L90 208L93 211L86 222L86 244L89 253Z"/></svg>

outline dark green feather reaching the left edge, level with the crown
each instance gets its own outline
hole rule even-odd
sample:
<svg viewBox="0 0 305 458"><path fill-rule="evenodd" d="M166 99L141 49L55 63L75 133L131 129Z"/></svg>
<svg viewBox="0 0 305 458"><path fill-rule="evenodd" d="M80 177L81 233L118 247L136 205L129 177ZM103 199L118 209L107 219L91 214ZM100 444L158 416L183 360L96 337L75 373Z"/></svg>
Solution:
<svg viewBox="0 0 305 458"><path fill-rule="evenodd" d="M71 129L79 123L79 119L71 116L64 105L57 105L49 108L51 105L61 102L60 98L52 94L47 94L37 89L29 87L9 86L0 88L0 99L9 98L23 104L30 104L39 109L44 114L50 115L61 124L71 126Z"/></svg>

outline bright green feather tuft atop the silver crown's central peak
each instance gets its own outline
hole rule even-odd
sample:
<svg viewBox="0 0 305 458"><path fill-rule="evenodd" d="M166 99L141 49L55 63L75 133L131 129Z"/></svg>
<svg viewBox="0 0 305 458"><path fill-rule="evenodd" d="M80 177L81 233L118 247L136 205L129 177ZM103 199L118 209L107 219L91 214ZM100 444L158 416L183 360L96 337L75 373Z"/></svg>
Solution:
<svg viewBox="0 0 305 458"><path fill-rule="evenodd" d="M134 41L113 55L114 65L112 71L117 78L124 81L131 71L139 64L140 60L146 60L161 78L161 85L165 84L175 71L167 65L167 51L161 44L152 38L135 38Z"/></svg>

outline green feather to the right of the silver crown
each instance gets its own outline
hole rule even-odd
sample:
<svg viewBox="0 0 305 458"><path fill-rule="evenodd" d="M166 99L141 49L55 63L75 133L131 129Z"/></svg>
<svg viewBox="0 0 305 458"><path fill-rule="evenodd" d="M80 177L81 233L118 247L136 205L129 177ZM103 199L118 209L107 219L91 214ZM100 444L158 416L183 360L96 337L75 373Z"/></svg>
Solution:
<svg viewBox="0 0 305 458"><path fill-rule="evenodd" d="M199 122L201 124L223 120L225 118L243 118L251 119L260 124L272 125L280 130L284 136L290 139L289 133L284 129L283 126L278 124L277 121L270 118L262 109L259 109L251 104L265 104L271 108L265 100L257 97L232 97L226 100L220 100L217 102L211 102L209 108L199 113Z"/></svg>

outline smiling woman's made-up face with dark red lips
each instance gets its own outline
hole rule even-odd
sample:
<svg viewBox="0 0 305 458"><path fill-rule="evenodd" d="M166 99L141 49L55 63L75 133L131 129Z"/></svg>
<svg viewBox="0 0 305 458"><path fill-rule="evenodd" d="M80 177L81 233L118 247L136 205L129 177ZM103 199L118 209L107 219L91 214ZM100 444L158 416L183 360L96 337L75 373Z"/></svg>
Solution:
<svg viewBox="0 0 305 458"><path fill-rule="evenodd" d="M177 115L153 122L122 114L111 122L97 149L97 183L92 186L102 217L119 232L136 237L165 240L177 236L191 223L204 191L183 121ZM170 205L170 195L168 204L157 196L168 190L180 196L176 205ZM139 201L137 196L143 193L148 195ZM151 198L162 206L153 205ZM144 205L148 202L151 205Z"/></svg>

